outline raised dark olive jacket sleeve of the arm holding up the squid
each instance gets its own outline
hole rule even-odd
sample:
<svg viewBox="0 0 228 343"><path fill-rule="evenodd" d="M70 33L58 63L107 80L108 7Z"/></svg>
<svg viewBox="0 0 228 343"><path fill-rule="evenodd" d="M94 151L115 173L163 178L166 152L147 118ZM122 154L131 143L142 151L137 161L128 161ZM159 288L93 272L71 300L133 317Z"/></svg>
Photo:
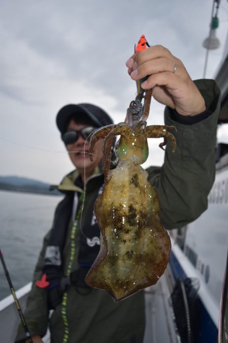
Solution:
<svg viewBox="0 0 228 343"><path fill-rule="evenodd" d="M176 151L167 142L164 164L147 169L161 203L160 219L166 229L192 222L207 209L207 197L215 177L215 144L220 110L220 91L213 80L195 81L204 97L208 117L192 125L171 119L165 109L165 124L175 126Z"/></svg>

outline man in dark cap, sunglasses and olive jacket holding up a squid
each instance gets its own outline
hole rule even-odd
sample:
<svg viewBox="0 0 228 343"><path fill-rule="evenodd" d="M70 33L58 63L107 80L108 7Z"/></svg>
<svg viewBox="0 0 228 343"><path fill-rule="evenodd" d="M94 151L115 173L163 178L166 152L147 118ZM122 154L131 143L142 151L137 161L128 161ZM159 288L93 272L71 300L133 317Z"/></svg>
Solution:
<svg viewBox="0 0 228 343"><path fill-rule="evenodd" d="M154 98L168 106L165 124L177 129L173 133L175 153L168 143L164 165L150 167L147 172L161 201L163 225L167 229L181 227L207 208L215 174L219 90L212 80L194 83L182 62L161 46L134 54L127 67L134 80L149 75L142 86L153 87ZM58 186L65 198L57 206L34 273L25 311L34 343L42 342L48 323L52 343L143 341L143 291L114 303L107 292L84 282L99 251L93 204L104 180L102 141L96 143L91 162L86 138L95 128L111 122L106 112L91 104L66 105L57 114L58 129L76 170ZM50 308L54 311L49 320ZM20 328L17 342L23 341Z"/></svg>

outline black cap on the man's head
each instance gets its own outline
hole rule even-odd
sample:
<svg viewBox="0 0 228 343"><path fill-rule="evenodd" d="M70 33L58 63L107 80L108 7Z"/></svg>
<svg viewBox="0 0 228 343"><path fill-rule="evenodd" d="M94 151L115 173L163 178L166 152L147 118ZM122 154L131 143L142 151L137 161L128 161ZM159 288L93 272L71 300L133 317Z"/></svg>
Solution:
<svg viewBox="0 0 228 343"><path fill-rule="evenodd" d="M63 106L56 116L56 123L59 131L63 134L66 131L67 123L72 116L90 119L94 126L100 128L113 124L109 115L100 107L92 104L69 104Z"/></svg>

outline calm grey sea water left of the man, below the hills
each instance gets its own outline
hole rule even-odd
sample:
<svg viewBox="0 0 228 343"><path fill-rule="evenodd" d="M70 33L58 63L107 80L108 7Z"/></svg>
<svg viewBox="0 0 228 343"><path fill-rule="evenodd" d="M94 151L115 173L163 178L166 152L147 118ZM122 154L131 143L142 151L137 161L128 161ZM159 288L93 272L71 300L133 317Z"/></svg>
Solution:
<svg viewBox="0 0 228 343"><path fill-rule="evenodd" d="M0 191L0 247L15 290L32 280L61 196ZM10 295L0 262L0 300Z"/></svg>

